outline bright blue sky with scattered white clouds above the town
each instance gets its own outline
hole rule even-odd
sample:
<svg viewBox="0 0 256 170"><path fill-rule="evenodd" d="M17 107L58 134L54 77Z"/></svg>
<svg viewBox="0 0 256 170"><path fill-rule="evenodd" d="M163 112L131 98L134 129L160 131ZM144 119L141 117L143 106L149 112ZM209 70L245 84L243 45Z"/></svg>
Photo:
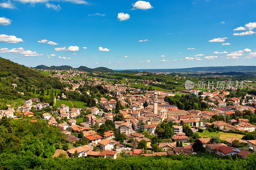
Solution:
<svg viewBox="0 0 256 170"><path fill-rule="evenodd" d="M255 9L256 0L4 0L0 56L32 67L255 65Z"/></svg>

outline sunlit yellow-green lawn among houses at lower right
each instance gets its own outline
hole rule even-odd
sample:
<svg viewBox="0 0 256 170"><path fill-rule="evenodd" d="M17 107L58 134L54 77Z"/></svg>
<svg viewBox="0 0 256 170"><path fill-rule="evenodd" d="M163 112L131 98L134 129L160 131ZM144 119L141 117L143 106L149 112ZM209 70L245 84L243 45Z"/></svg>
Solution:
<svg viewBox="0 0 256 170"><path fill-rule="evenodd" d="M236 134L236 133L225 133L225 132L209 132L208 130L205 130L203 133L198 133L200 137L206 137L211 138L212 136L219 136L220 139L225 140L231 137L239 138L241 139L244 135Z"/></svg>

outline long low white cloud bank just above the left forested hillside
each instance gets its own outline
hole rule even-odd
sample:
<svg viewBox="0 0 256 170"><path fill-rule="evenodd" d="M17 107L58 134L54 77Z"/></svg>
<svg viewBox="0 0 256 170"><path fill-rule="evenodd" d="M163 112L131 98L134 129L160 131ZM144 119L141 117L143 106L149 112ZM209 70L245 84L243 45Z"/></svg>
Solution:
<svg viewBox="0 0 256 170"><path fill-rule="evenodd" d="M36 51L31 51L31 50L25 50L24 48L20 47L20 48L12 48L12 49L8 49L8 48L1 48L0 49L0 53L14 53L14 54L21 54L24 55L26 57L30 57L30 56L42 56L44 54L38 54L36 53Z"/></svg>

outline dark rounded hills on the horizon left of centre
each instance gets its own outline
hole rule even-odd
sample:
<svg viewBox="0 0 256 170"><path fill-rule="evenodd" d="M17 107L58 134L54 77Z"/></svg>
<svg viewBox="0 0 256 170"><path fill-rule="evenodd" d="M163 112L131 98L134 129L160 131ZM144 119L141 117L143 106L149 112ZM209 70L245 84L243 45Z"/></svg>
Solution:
<svg viewBox="0 0 256 170"><path fill-rule="evenodd" d="M139 71L133 71L133 70L120 70L120 71L117 71L117 70L112 70L112 69L108 69L106 67L97 67L95 69L91 69L91 68L88 68L88 67L85 67L85 66L80 66L78 68L73 68L71 66L68 66L68 65L62 65L62 66L55 66L55 65L52 65L51 67L48 67L48 66L45 66L45 65L38 65L36 67L34 67L35 69L59 69L59 70L79 70L79 71L87 71L87 72L90 72L90 71L99 71L99 72L103 72L103 73L114 73L114 72L119 72L119 73L138 73Z"/></svg>

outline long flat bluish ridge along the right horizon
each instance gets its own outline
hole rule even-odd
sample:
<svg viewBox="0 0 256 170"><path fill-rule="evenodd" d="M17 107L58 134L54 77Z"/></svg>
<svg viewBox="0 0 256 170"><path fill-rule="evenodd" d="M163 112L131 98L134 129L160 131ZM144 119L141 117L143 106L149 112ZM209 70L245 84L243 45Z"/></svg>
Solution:
<svg viewBox="0 0 256 170"><path fill-rule="evenodd" d="M217 67L192 67L192 68L183 68L183 69L131 69L132 71L139 71L139 72L153 72L153 73L159 73L159 72L247 72L247 73L256 73L256 66L217 66Z"/></svg>

